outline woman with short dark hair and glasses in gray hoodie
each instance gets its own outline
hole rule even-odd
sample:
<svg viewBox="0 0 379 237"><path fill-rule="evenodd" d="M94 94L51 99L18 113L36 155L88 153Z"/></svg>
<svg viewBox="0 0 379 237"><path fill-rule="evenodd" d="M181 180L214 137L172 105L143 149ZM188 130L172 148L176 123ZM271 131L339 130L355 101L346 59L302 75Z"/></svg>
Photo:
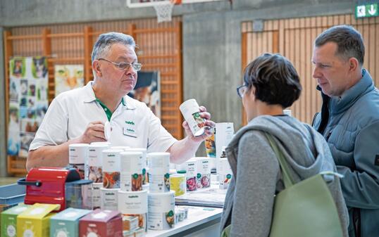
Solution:
<svg viewBox="0 0 379 237"><path fill-rule="evenodd" d="M284 184L266 133L273 136L285 155L295 182L323 171L336 172L323 136L308 124L283 114L301 91L297 71L280 54L264 53L244 72L244 84L237 88L237 94L249 123L235 134L226 149L234 176L225 198L221 230L231 224L230 236L269 236L274 196L284 189ZM330 181L328 187L344 236L348 236L349 219L339 179Z"/></svg>

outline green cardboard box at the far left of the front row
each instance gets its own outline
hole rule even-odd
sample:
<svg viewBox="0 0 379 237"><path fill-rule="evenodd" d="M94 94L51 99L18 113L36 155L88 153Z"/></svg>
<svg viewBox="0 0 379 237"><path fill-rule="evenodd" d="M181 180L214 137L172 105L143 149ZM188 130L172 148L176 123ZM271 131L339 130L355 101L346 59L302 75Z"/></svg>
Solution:
<svg viewBox="0 0 379 237"><path fill-rule="evenodd" d="M30 205L20 204L1 212L1 237L17 236L17 216L29 207Z"/></svg>

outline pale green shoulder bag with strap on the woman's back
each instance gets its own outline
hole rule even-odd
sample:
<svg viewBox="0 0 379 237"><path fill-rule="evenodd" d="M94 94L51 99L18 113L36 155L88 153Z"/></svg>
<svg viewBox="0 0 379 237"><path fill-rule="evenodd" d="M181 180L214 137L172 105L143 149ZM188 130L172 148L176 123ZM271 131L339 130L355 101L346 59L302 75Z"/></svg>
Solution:
<svg viewBox="0 0 379 237"><path fill-rule="evenodd" d="M267 134L280 168L285 189L275 196L270 237L341 237L342 226L337 207L321 172L294 184L282 151L273 136ZM221 237L230 236L231 225L223 229Z"/></svg>

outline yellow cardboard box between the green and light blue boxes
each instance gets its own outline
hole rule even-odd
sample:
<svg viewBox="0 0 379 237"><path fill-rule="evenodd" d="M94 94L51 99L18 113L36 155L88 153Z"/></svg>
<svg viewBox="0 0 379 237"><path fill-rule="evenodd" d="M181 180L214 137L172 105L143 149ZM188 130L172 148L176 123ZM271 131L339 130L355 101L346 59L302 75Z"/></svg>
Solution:
<svg viewBox="0 0 379 237"><path fill-rule="evenodd" d="M60 208L59 204L35 203L17 216L17 236L49 237L50 218L56 214L51 212Z"/></svg>

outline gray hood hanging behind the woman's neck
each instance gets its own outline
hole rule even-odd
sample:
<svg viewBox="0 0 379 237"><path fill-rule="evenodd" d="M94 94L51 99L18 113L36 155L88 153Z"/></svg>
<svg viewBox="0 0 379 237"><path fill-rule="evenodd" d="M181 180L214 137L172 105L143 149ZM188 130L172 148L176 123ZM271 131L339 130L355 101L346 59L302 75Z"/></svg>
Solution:
<svg viewBox="0 0 379 237"><path fill-rule="evenodd" d="M310 174L316 174L325 165L323 164L323 156L328 152L328 150L325 150L328 145L325 142L323 143L323 137L316 130L293 117L261 115L242 127L226 148L233 175L237 174L240 139L246 132L251 130L273 135L273 139L282 150L291 169L299 177L309 177ZM326 170L333 169L328 167Z"/></svg>

